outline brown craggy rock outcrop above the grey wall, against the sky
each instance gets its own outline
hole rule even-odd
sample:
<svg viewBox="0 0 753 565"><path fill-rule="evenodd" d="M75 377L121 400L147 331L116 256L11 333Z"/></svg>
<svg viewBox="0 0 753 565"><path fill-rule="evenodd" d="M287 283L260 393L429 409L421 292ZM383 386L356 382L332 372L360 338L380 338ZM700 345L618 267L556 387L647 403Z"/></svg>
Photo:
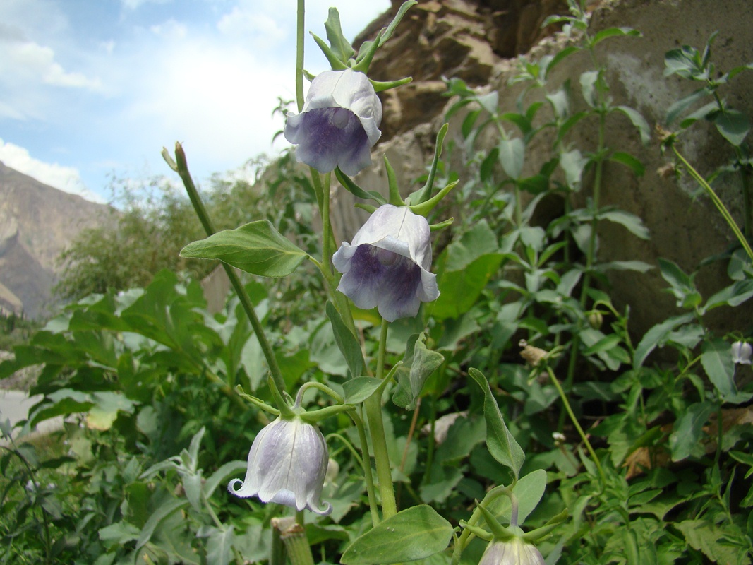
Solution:
<svg viewBox="0 0 753 565"><path fill-rule="evenodd" d="M364 29L354 45L373 39L403 4ZM428 0L405 14L389 43L377 51L370 78L413 82L383 93L383 141L424 124L441 112L447 97L443 77L462 78L470 86L488 84L500 60L526 53L553 29L541 29L551 14L567 10L565 0Z"/></svg>

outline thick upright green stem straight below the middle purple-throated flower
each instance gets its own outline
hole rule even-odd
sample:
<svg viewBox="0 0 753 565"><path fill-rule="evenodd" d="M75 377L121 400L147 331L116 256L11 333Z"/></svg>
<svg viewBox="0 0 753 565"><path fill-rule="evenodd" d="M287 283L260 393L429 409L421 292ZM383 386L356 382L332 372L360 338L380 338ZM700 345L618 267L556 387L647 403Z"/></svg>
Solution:
<svg viewBox="0 0 753 565"><path fill-rule="evenodd" d="M384 357L387 347L387 328L389 322L382 320L379 352L377 353L377 378L384 378ZM370 395L364 401L366 418L371 433L371 445L374 450L374 463L377 466L377 480L379 481L380 495L382 496L382 515L389 518L398 513L398 505L395 502L395 489L392 486L392 469L389 463L389 451L387 439L384 433L384 421L382 419L382 395Z"/></svg>

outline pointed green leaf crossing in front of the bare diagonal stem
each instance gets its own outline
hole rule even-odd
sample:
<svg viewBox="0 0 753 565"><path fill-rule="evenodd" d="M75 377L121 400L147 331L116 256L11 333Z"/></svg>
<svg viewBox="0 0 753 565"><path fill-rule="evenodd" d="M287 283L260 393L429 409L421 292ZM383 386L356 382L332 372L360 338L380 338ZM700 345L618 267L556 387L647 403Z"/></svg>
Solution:
<svg viewBox="0 0 753 565"><path fill-rule="evenodd" d="M181 257L219 259L246 273L273 277L288 276L306 256L269 220L220 231L206 240L189 243L181 251Z"/></svg>

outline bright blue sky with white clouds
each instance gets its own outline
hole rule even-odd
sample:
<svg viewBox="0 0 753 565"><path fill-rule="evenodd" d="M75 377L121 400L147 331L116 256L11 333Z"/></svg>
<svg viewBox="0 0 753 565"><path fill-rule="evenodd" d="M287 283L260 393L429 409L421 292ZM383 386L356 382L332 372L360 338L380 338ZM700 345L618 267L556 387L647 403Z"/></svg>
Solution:
<svg viewBox="0 0 753 565"><path fill-rule="evenodd" d="M346 38L389 0L307 0L325 38L336 5ZM252 176L285 147L273 117L295 97L296 0L0 0L0 161L105 202L118 179L170 176L180 141L197 182ZM307 71L329 68L306 34ZM305 88L305 87L304 87Z"/></svg>

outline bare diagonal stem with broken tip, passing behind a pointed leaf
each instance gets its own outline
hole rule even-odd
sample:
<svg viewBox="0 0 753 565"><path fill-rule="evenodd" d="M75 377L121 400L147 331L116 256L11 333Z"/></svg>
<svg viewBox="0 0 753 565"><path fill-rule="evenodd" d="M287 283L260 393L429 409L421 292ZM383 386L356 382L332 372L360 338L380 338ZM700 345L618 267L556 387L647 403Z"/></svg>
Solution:
<svg viewBox="0 0 753 565"><path fill-rule="evenodd" d="M196 185L194 185L194 179L191 178L191 173L188 171L188 163L186 161L183 147L180 143L175 144L175 172L178 173L183 181L188 197L191 199L191 204L193 204L194 210L199 216L199 221L201 221L207 237L215 234L215 227L212 224L212 220L209 218L209 214L206 212L199 191L197 191ZM230 279L230 284L238 295L239 301L246 316L248 316L248 320L251 322L252 328L254 328L254 333L261 346L261 351L264 353L264 358L267 359L267 365L272 373L272 378L275 380L277 388L281 392L284 392L285 379L282 377L282 371L280 371L279 365L277 364L277 359L270 346L270 342L267 340L267 334L264 333L264 326L261 325L261 322L256 315L254 304L252 303L251 298L248 298L248 293L245 292L245 288L243 288L243 285L240 282L237 273L233 270L233 267L230 267L230 265L226 263L223 263L222 267L224 268L225 273L227 273L227 278Z"/></svg>

